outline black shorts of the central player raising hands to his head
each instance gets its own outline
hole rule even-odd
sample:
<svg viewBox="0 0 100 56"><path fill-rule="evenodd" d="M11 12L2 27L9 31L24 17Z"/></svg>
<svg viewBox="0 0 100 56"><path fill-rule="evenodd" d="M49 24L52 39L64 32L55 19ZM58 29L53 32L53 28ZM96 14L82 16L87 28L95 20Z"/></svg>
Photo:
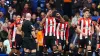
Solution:
<svg viewBox="0 0 100 56"><path fill-rule="evenodd" d="M44 37L44 42L47 48L52 48L56 43L56 37L55 36L45 36Z"/></svg>

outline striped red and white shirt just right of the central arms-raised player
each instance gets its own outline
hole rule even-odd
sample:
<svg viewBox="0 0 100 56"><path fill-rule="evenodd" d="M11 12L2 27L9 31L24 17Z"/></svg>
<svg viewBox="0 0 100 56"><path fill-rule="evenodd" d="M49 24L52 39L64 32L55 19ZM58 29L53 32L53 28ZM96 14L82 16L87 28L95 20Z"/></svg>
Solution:
<svg viewBox="0 0 100 56"><path fill-rule="evenodd" d="M56 36L57 39L61 39L61 40L66 40L68 39L68 23L58 23L57 25L57 29L56 29Z"/></svg>

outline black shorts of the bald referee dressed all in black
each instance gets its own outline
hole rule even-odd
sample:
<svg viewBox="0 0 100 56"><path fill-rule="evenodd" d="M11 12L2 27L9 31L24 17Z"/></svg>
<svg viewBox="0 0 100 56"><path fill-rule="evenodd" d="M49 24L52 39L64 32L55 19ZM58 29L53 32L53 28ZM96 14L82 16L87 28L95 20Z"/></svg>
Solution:
<svg viewBox="0 0 100 56"><path fill-rule="evenodd" d="M30 37L23 38L22 45L23 45L23 48L26 48L29 50L36 49L36 47L37 47L35 39L30 38Z"/></svg>

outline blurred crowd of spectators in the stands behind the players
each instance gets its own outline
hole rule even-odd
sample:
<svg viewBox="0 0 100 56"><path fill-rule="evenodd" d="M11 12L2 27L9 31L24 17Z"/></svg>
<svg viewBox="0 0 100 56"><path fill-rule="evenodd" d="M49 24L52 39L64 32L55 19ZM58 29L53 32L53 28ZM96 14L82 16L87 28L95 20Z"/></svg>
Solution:
<svg viewBox="0 0 100 56"><path fill-rule="evenodd" d="M49 10L52 10L53 17L57 18L59 13L68 22L70 45L76 36L78 20L83 17L83 10L87 8L91 19L97 22L100 18L100 0L0 0L0 54L11 52L9 28L12 23L18 19L23 21L26 14L30 13L31 23L38 29L39 22L45 18ZM59 20L57 19L57 22L60 22ZM23 48L20 52L23 52Z"/></svg>

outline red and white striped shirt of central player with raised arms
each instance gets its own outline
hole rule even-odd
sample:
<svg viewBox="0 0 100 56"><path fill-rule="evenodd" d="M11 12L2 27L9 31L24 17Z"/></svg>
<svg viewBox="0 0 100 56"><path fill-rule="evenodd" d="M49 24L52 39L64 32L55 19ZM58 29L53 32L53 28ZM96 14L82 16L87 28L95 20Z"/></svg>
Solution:
<svg viewBox="0 0 100 56"><path fill-rule="evenodd" d="M56 19L54 17L46 18L44 29L45 29L45 36L55 36Z"/></svg>

